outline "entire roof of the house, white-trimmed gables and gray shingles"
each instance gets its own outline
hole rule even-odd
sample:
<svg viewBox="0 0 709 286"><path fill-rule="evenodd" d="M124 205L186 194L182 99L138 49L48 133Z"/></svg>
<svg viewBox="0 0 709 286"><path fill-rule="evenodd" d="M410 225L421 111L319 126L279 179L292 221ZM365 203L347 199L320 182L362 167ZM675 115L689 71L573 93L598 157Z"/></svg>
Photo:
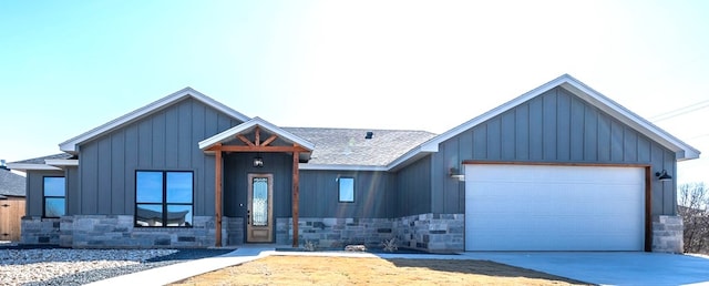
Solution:
<svg viewBox="0 0 709 286"><path fill-rule="evenodd" d="M154 112L163 110L183 99L193 98L244 122L209 139L203 140L199 142L199 147L202 150L206 150L217 143L233 141L235 135L249 133L256 126L260 126L266 132L277 134L279 136L274 144L298 144L311 151L304 152L301 154L301 160L309 160L308 164L300 165L304 170L397 171L410 162L427 156L430 153L438 152L439 144L442 142L555 88L562 88L568 91L580 100L605 112L609 116L630 126L638 133L675 152L677 154L677 161L699 157L700 152L697 149L672 136L649 121L640 118L568 74L563 74L440 135L425 131L403 130L278 127L260 118L249 119L246 115L234 111L191 88L185 88L106 124L70 139L66 142L61 143L60 149L64 152L76 154L78 144L153 114ZM367 132L373 132L372 139L364 139ZM30 160L27 162L21 161L11 164L13 164L13 168L17 170L22 170L22 167L27 167L27 170L32 170L33 167L37 167L34 170L61 170L58 166L78 164L75 160L71 159L71 154L60 154L60 157L56 159L42 157L34 159L37 162ZM38 160L41 160L42 162L39 162Z"/></svg>

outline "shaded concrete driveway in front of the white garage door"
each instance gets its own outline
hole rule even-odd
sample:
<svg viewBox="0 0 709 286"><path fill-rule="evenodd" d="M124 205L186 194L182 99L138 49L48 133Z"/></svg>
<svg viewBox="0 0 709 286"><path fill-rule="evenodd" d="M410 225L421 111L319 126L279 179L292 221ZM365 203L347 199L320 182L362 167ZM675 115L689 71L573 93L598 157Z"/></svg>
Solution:
<svg viewBox="0 0 709 286"><path fill-rule="evenodd" d="M709 285L709 258L625 252L464 253L600 285Z"/></svg>

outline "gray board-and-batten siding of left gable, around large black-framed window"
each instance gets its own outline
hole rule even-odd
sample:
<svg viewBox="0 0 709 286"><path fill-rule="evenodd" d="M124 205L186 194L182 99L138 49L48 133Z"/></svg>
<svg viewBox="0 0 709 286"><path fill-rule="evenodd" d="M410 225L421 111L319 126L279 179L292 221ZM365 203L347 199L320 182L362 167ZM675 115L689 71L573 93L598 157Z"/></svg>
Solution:
<svg viewBox="0 0 709 286"><path fill-rule="evenodd" d="M192 98L79 145L75 213L132 215L135 171L194 172L194 214L214 215L214 156L197 143L243 123Z"/></svg>

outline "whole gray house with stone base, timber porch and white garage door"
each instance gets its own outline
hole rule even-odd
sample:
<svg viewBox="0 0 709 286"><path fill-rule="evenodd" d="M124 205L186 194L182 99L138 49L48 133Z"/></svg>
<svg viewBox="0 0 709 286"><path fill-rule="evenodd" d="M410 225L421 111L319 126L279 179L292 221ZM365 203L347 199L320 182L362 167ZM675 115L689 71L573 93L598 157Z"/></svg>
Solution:
<svg viewBox="0 0 709 286"><path fill-rule="evenodd" d="M567 74L438 135L276 126L186 88L60 150L9 164L25 244L681 252L700 153Z"/></svg>

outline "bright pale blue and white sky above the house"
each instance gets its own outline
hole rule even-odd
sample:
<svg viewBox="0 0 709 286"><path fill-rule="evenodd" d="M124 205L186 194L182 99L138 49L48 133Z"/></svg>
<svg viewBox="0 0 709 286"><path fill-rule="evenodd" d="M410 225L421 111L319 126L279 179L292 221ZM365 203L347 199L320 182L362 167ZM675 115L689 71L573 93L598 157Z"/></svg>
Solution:
<svg viewBox="0 0 709 286"><path fill-rule="evenodd" d="M0 1L0 159L58 153L184 86L277 125L441 133L563 73L709 153L707 14L709 1ZM709 182L705 159L679 172Z"/></svg>

